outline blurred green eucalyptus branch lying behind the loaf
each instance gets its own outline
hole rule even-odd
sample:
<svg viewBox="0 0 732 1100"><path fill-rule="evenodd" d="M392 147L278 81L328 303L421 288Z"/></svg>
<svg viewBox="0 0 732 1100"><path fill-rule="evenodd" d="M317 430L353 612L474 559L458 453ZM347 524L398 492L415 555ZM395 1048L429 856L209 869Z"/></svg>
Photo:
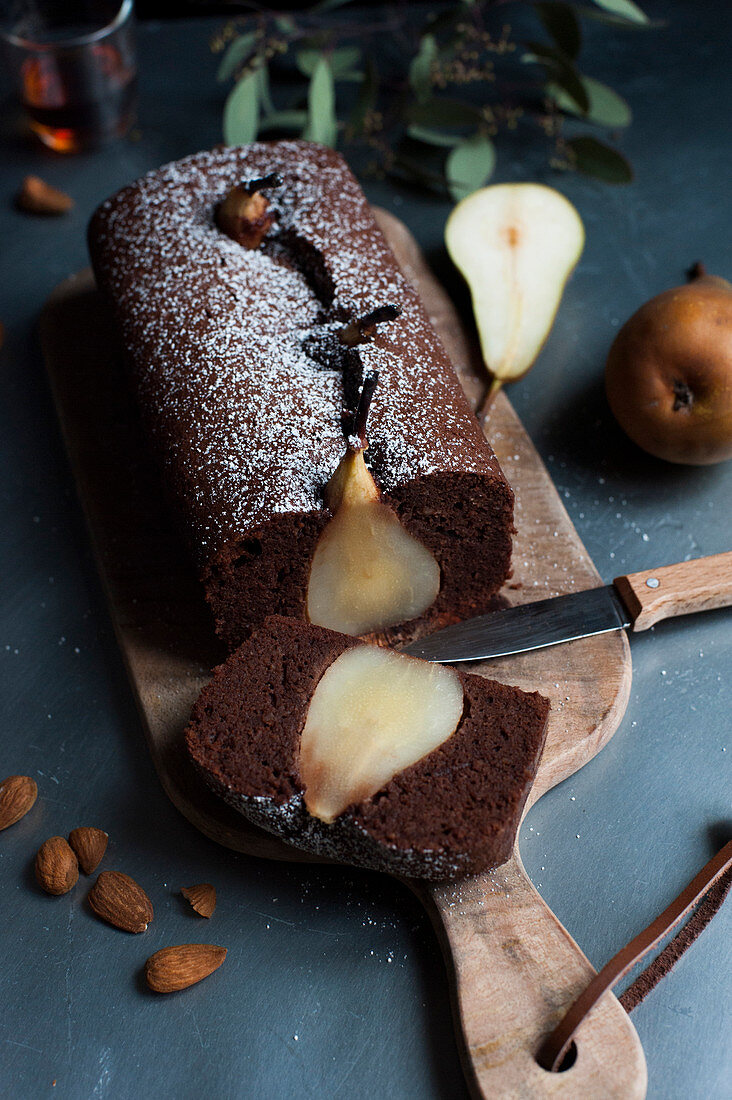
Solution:
<svg viewBox="0 0 732 1100"><path fill-rule="evenodd" d="M492 175L501 133L521 127L547 144L553 167L624 183L632 172L618 148L581 130L614 133L631 122L625 100L578 68L581 20L613 31L648 20L631 0L592 2L514 2L528 36L503 22L502 0L444 2L427 16L403 3L346 18L338 0L299 13L251 3L251 15L214 43L223 51L219 78L236 81L225 140L294 133L360 143L378 170L459 199Z"/></svg>

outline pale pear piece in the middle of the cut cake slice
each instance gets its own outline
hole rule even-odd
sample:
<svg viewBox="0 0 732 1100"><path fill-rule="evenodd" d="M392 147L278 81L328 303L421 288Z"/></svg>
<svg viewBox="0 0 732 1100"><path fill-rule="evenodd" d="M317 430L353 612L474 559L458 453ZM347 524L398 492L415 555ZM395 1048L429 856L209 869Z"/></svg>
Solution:
<svg viewBox="0 0 732 1100"><path fill-rule="evenodd" d="M309 813L331 823L450 737L462 685L444 664L375 646L347 649L326 669L301 737Z"/></svg>

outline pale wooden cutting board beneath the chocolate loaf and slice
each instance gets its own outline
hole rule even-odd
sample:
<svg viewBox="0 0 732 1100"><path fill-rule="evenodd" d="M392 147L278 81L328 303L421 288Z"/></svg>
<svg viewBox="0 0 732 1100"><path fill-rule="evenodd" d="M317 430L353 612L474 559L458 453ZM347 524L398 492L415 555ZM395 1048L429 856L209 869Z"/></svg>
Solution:
<svg viewBox="0 0 732 1100"><path fill-rule="evenodd" d="M417 287L473 406L484 381L471 342L419 249L391 215L379 222ZM110 317L89 271L63 283L44 310L42 341L69 459L111 615L161 782L211 839L271 859L309 857L249 825L203 785L183 754L190 706L223 651L168 517L146 452ZM487 433L516 493L511 603L600 583L554 485L505 396ZM484 672L551 700L529 804L571 776L616 729L630 692L623 632L484 662ZM593 975L528 881L517 850L507 864L445 886L409 883L426 905L451 979L466 1076L485 1098L643 1097L637 1035L608 993L582 1024L571 1068L535 1062L540 1040Z"/></svg>

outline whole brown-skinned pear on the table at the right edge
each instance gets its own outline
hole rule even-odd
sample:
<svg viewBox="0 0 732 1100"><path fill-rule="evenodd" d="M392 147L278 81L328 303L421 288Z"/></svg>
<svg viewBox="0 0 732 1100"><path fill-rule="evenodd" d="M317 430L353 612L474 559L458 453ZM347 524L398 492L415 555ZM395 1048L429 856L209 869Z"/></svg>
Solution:
<svg viewBox="0 0 732 1100"><path fill-rule="evenodd" d="M610 349L605 387L620 426L651 454L732 458L732 284L701 274L641 306Z"/></svg>

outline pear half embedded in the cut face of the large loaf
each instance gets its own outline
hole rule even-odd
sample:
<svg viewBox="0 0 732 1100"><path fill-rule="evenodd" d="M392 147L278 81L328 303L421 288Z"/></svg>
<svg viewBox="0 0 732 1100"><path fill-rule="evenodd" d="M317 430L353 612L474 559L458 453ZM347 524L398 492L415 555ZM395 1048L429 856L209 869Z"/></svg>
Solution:
<svg viewBox="0 0 732 1100"><path fill-rule="evenodd" d="M381 499L362 448L349 446L326 499L334 517L310 565L310 623L361 635L422 615L439 592L439 565Z"/></svg>

